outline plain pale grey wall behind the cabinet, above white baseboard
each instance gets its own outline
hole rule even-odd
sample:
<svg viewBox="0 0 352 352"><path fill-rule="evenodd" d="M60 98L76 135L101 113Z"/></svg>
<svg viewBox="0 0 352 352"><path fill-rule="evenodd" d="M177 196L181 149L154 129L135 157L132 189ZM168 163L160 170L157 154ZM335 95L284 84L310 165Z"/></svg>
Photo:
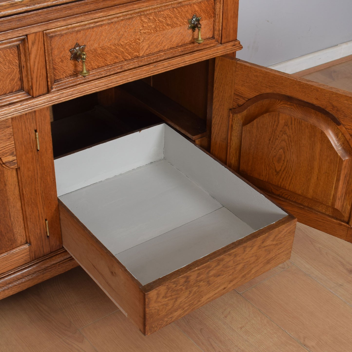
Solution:
<svg viewBox="0 0 352 352"><path fill-rule="evenodd" d="M239 0L237 57L263 66L352 40L352 0Z"/></svg>

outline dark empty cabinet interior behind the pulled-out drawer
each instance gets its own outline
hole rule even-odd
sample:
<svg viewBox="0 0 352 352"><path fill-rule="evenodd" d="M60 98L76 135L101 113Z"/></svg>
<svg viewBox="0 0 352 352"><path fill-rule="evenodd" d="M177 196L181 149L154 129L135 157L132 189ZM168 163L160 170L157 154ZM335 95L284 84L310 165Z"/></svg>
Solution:
<svg viewBox="0 0 352 352"><path fill-rule="evenodd" d="M165 121L209 149L212 60L52 106L54 158Z"/></svg>

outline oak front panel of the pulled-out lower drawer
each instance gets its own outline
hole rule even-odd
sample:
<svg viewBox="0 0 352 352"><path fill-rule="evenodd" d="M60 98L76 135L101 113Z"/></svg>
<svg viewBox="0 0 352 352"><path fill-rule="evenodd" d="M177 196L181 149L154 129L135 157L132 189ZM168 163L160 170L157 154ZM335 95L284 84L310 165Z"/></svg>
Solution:
<svg viewBox="0 0 352 352"><path fill-rule="evenodd" d="M293 216L288 215L145 285L145 334L157 331L289 259L295 221Z"/></svg>

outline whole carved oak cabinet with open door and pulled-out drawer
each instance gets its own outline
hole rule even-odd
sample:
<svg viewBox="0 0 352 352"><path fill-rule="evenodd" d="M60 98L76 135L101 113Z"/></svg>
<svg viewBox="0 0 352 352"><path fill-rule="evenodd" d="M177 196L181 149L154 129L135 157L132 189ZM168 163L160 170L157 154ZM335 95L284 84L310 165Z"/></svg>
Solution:
<svg viewBox="0 0 352 352"><path fill-rule="evenodd" d="M288 260L284 209L352 240L352 94L235 59L237 8L2 2L0 298L78 262L150 334Z"/></svg>

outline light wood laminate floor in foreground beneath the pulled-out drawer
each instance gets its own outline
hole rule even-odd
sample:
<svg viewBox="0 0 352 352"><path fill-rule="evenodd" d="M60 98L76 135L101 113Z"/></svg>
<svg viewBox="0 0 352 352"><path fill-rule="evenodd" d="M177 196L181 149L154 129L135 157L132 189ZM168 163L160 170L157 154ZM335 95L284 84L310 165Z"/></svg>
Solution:
<svg viewBox="0 0 352 352"><path fill-rule="evenodd" d="M0 351L352 351L352 244L298 224L291 259L145 337L77 267L0 301Z"/></svg>

